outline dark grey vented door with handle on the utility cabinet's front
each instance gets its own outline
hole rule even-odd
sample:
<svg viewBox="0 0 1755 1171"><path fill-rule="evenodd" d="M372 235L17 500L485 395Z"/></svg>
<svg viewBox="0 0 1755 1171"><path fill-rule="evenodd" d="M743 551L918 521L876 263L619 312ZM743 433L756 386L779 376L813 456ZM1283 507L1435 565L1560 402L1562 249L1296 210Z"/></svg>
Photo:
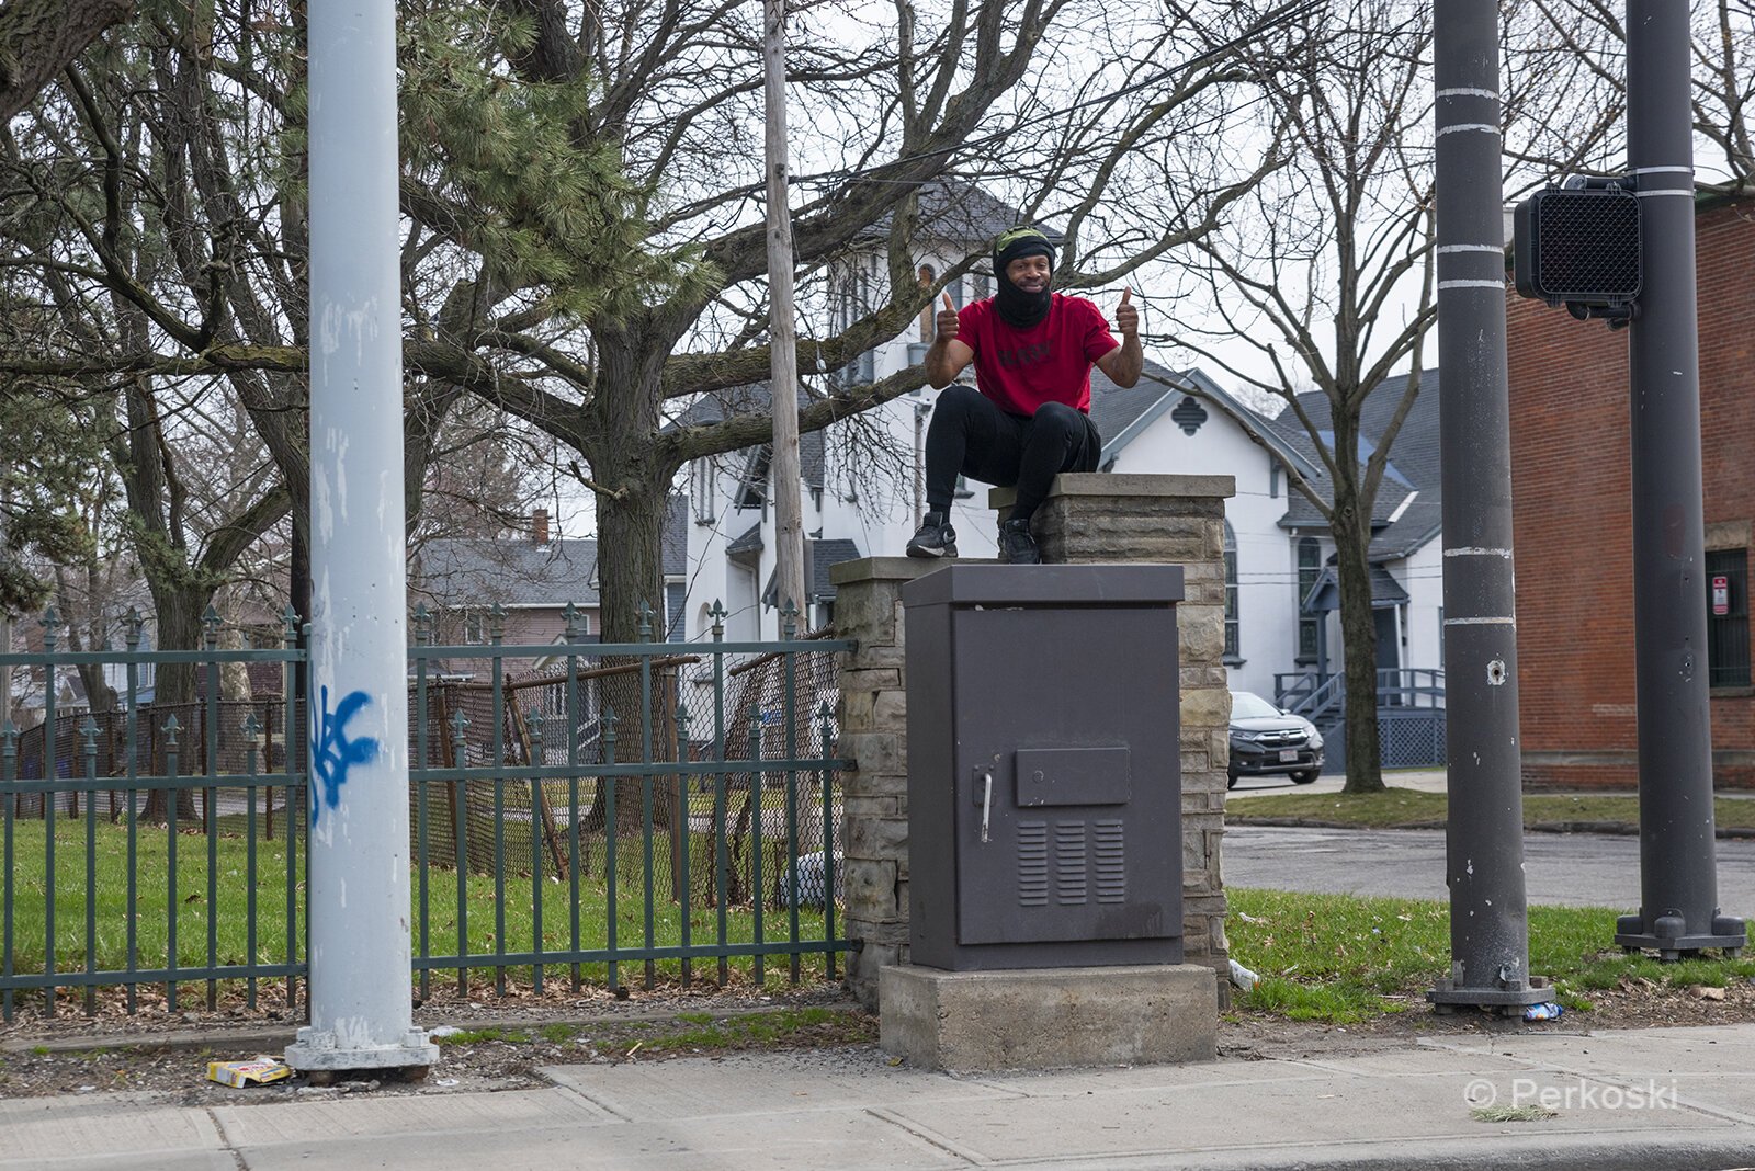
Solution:
<svg viewBox="0 0 1755 1171"><path fill-rule="evenodd" d="M958 945L1179 936L1174 608L956 608L951 640Z"/></svg>

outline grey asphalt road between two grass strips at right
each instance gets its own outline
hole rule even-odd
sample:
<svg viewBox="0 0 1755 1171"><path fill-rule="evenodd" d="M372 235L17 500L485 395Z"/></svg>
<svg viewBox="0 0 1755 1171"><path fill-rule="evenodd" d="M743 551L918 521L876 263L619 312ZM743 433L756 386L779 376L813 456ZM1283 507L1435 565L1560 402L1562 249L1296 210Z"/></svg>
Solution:
<svg viewBox="0 0 1755 1171"><path fill-rule="evenodd" d="M1443 899L1441 829L1225 826L1225 885ZM1639 838L1532 833L1523 838L1530 903L1639 908ZM1718 841L1718 905L1755 919L1755 841Z"/></svg>

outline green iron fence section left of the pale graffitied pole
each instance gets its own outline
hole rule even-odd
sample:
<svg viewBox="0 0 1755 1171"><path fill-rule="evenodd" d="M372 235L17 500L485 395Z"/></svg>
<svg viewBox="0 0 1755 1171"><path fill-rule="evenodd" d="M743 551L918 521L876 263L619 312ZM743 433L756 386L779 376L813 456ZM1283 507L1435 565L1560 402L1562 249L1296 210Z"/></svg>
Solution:
<svg viewBox="0 0 1755 1171"><path fill-rule="evenodd" d="M300 857L304 784L297 713L281 701L221 698L230 663L279 663L290 673L304 652L286 645L219 650L209 612L200 650L142 650L130 615L123 650L65 652L46 615L44 650L0 654L0 670L47 675L42 724L0 729L0 1010L12 1018L21 994L40 992L53 1013L60 994L97 1011L100 987L179 1008L183 985L239 982L249 1006L258 985L286 980L297 999L304 976ZM119 710L60 712L60 668L121 668ZM186 671L197 699L147 706L142 673ZM193 685L200 684L200 687ZM284 689L283 689L284 691ZM276 794L281 833L272 836ZM160 992L161 989L161 992ZM161 997L161 999L160 999Z"/></svg>

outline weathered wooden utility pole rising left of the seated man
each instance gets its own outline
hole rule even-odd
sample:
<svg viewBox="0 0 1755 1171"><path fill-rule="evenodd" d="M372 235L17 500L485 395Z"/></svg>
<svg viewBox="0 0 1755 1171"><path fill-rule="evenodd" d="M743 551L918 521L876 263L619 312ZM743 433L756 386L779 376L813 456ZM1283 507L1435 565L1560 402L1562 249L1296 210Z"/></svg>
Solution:
<svg viewBox="0 0 1755 1171"><path fill-rule="evenodd" d="M786 0L762 0L767 96L769 386L774 408L774 587L779 608L804 593L804 501L799 496L799 331L792 303L792 210L786 203Z"/></svg>

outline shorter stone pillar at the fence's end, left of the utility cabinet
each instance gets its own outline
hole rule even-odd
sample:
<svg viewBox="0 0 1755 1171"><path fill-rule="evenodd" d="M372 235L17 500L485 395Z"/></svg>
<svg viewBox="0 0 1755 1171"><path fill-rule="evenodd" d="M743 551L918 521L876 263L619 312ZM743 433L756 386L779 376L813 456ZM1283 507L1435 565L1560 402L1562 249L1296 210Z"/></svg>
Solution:
<svg viewBox="0 0 1755 1171"><path fill-rule="evenodd" d="M842 903L849 940L848 987L878 1010L878 969L907 962L907 684L902 673L902 586L942 561L865 557L832 566L835 636L842 652L841 778Z"/></svg>

